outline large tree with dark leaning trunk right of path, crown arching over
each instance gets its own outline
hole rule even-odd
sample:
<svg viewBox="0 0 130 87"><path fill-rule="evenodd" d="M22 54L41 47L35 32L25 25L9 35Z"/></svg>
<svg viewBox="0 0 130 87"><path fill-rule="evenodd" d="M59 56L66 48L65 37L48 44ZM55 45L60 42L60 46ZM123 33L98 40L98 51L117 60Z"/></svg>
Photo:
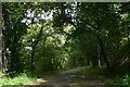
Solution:
<svg viewBox="0 0 130 87"><path fill-rule="evenodd" d="M122 38L120 36L122 34L120 30L122 21L120 13L118 13L121 12L120 5L121 3L62 3L58 5L60 11L56 11L54 21L58 22L55 23L58 27L65 24L73 25L76 28L72 34L74 38L87 33L94 35L101 50L100 57L102 58L100 59L103 59L107 69L110 69L110 63L115 60L114 53L120 53L116 51L120 49L119 41Z"/></svg>

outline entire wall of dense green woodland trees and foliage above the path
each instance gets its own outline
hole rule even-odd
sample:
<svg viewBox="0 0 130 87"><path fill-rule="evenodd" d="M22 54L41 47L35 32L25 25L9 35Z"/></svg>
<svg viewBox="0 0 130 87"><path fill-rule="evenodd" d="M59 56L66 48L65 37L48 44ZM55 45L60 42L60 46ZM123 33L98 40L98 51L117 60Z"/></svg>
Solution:
<svg viewBox="0 0 130 87"><path fill-rule="evenodd" d="M129 3L2 3L3 72L78 66L129 73Z"/></svg>

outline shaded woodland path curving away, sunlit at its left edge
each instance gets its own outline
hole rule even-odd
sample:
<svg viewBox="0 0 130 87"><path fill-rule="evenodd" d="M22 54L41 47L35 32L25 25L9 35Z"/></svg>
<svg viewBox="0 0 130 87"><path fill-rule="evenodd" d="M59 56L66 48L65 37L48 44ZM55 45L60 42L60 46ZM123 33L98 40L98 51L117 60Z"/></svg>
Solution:
<svg viewBox="0 0 130 87"><path fill-rule="evenodd" d="M103 74L92 73L93 70L87 66L72 69L53 76L43 76L28 85L64 85L63 87L86 87L86 85L104 85L107 77ZM68 86L69 85L69 86ZM61 87L61 86L60 86Z"/></svg>

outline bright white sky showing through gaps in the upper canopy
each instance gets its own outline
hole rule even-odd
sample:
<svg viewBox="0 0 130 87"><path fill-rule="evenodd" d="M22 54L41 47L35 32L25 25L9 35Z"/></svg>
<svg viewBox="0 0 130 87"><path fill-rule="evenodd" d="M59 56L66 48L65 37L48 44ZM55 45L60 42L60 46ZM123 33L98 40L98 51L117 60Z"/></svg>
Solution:
<svg viewBox="0 0 130 87"><path fill-rule="evenodd" d="M75 1L74 4L72 4L73 11L70 11L69 9L65 10L66 14L69 14L72 17L76 17L76 7L77 7L77 2ZM44 11L42 10L41 12L39 12L37 15L35 15L36 10L31 11L30 9L28 9L25 12L26 17L24 17L22 20L22 23L25 23L26 25L31 24L31 21L34 22L39 22L39 20L51 20L53 17L53 12L61 12L60 10L51 10L51 11ZM74 18L72 18L73 22Z"/></svg>

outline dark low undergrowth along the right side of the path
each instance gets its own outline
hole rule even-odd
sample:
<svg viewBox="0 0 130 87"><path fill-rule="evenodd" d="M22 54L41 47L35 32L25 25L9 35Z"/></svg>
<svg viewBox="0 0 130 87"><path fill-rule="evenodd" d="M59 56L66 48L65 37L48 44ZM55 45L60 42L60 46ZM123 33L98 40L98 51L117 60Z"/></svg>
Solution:
<svg viewBox="0 0 130 87"><path fill-rule="evenodd" d="M109 87L114 85L130 87L130 73L114 73L114 71L112 72L105 69L88 67L86 71L80 71L78 74L103 75L106 78L105 84L109 85Z"/></svg>

